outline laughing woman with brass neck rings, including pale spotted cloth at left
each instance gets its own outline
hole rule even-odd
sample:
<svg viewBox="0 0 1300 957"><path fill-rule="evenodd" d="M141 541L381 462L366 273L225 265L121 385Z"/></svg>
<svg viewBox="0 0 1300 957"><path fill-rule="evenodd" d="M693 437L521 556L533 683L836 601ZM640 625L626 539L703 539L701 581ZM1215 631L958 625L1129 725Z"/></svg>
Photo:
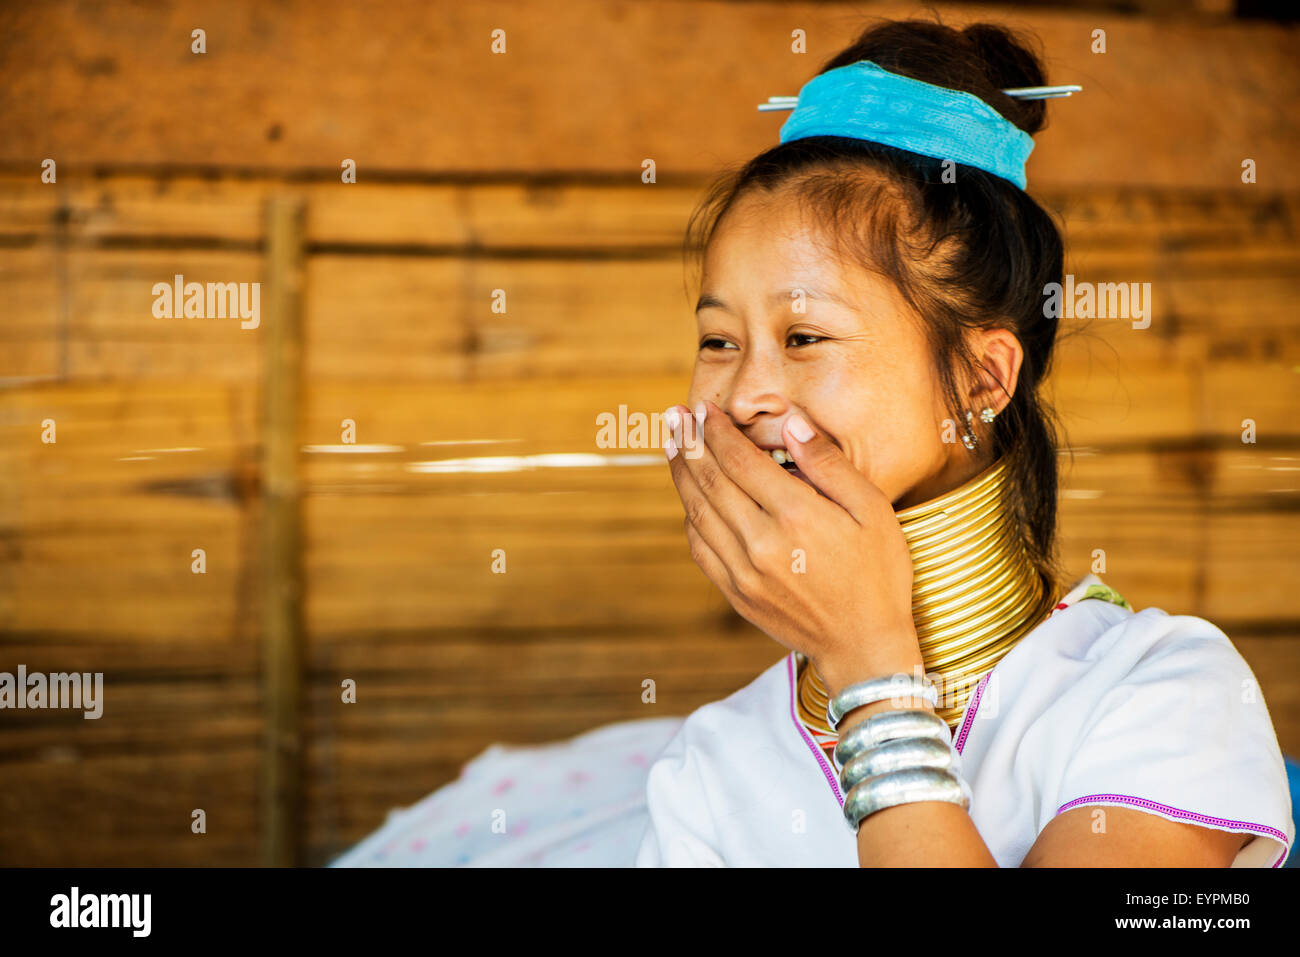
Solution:
<svg viewBox="0 0 1300 957"><path fill-rule="evenodd" d="M1054 558L1062 244L1024 192L1044 101L1005 92L1045 82L1000 27L870 27L692 222L668 467L692 557L790 654L685 720L489 749L337 865L1286 859L1227 636Z"/></svg>

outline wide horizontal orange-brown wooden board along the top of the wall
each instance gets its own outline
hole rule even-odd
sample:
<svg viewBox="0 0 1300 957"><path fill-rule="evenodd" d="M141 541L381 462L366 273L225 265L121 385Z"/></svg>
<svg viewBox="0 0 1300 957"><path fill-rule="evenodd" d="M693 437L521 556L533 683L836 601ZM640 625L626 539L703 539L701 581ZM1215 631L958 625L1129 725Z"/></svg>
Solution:
<svg viewBox="0 0 1300 957"><path fill-rule="evenodd" d="M403 170L581 170L640 185L646 159L658 183L712 173L775 146L784 116L757 105L797 94L871 16L928 16L914 0L485 0L436 14L346 0L8 7L0 163L27 172L56 159L60 181L65 165L129 161L328 170L338 182L351 159L359 185ZM1011 4L932 9L953 25L1032 30L1049 81L1083 86L1048 108L1030 159L1034 187L1247 191L1256 187L1242 183L1244 159L1256 161L1261 189L1288 179L1300 138L1290 26ZM205 53L190 52L196 27L207 30ZM498 29L507 48L494 53ZM806 53L792 52L794 30Z"/></svg>

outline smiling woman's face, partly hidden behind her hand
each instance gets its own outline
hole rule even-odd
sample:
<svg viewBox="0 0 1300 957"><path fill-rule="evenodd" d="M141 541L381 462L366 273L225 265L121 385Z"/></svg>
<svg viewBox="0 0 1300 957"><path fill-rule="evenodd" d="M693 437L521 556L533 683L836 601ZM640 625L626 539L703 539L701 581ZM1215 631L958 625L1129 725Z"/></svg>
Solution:
<svg viewBox="0 0 1300 957"><path fill-rule="evenodd" d="M784 447L798 412L896 508L985 464L959 438L942 441L953 412L897 289L836 261L793 203L750 194L728 211L705 256L697 325L690 407L711 399L760 447Z"/></svg>

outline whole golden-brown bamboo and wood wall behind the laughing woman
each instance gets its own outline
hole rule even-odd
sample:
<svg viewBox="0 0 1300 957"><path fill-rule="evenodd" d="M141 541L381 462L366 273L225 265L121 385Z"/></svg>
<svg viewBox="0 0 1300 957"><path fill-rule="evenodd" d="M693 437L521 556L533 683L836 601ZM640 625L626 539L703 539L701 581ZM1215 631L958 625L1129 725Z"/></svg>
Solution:
<svg viewBox="0 0 1300 957"><path fill-rule="evenodd" d="M6 10L0 671L103 671L105 714L0 713L0 863L321 863L493 742L685 714L775 661L690 562L660 454L595 423L684 399L686 217L863 10L914 8ZM1006 16L1086 87L1030 166L1069 272L1153 286L1149 329L1061 342L1063 555L1227 631L1300 754L1296 31ZM261 325L156 319L177 273L263 282Z"/></svg>

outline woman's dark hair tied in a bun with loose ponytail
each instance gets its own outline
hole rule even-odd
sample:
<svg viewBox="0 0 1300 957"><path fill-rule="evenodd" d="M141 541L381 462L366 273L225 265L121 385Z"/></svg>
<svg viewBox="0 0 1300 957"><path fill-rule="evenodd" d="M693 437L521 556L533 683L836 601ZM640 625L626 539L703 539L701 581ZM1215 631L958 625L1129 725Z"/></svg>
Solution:
<svg viewBox="0 0 1300 957"><path fill-rule="evenodd" d="M1045 125L1043 100L1001 92L1046 83L1039 57L1004 27L883 22L820 72L859 60L974 94L1031 135ZM1058 588L1065 580L1056 555L1058 425L1039 385L1057 334L1057 320L1044 315L1043 289L1062 281L1061 234L1014 183L974 166L946 166L948 182L942 160L894 147L846 137L783 143L714 183L690 217L686 255L703 255L742 196L796 203L829 239L835 256L893 281L915 309L959 429L967 406L958 373L974 374L979 361L967 347L967 330L1014 333L1024 358L1015 393L993 421L992 451L1006 456L1009 493L1030 557Z"/></svg>

